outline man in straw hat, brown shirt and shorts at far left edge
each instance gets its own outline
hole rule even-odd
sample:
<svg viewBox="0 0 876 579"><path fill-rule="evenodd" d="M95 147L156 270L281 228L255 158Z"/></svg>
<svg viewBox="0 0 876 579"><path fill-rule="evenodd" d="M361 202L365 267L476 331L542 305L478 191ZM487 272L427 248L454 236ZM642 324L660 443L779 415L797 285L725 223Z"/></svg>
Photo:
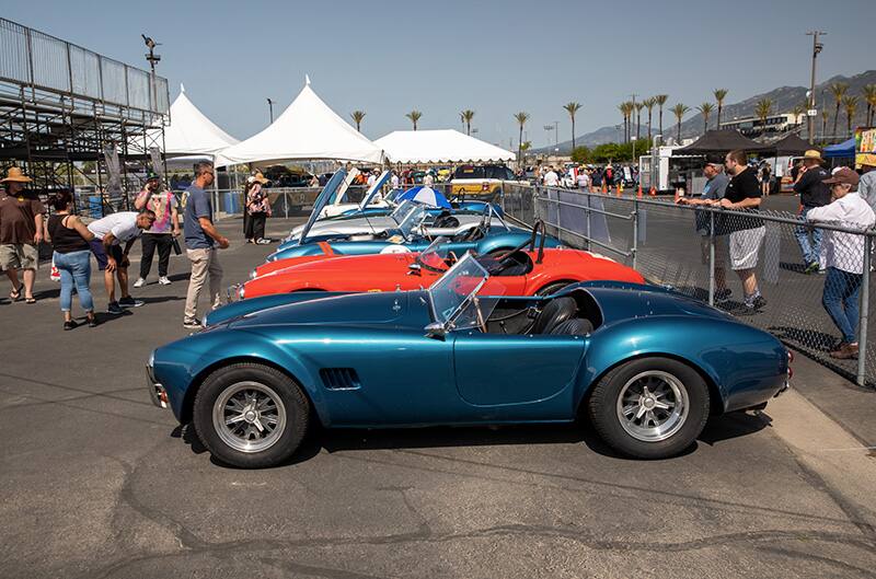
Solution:
<svg viewBox="0 0 876 579"><path fill-rule="evenodd" d="M22 283L19 270L24 278L24 299L36 303L34 281L39 265L37 246L44 239L43 216L46 208L35 193L25 189L33 180L16 166L7 171L0 180L3 193L0 194L0 268L3 268L12 282L9 298L21 298Z"/></svg>

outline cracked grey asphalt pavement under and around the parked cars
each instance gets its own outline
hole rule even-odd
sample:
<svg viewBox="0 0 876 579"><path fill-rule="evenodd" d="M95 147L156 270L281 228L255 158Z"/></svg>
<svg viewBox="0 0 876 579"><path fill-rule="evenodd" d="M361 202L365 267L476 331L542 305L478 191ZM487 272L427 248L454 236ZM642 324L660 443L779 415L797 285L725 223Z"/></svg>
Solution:
<svg viewBox="0 0 876 579"><path fill-rule="evenodd" d="M230 285L270 247L219 228ZM174 257L146 305L72 332L47 270L37 304L0 303L0 577L873 577L876 462L799 394L816 364L671 460L587 425L433 428L314 431L292 464L239 471L148 399L186 278Z"/></svg>

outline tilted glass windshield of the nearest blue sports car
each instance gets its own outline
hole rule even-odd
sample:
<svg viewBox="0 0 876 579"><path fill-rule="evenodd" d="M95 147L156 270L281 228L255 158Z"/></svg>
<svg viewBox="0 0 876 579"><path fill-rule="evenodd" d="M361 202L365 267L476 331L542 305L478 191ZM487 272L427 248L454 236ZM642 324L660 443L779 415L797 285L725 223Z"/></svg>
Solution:
<svg viewBox="0 0 876 579"><path fill-rule="evenodd" d="M477 292L488 278L486 269L472 257L471 253L466 253L429 288L435 321L443 324L448 331L484 328L485 321L496 306L496 300L477 298ZM504 293L504 291L496 292L496 289L502 288L491 283L494 293Z"/></svg>

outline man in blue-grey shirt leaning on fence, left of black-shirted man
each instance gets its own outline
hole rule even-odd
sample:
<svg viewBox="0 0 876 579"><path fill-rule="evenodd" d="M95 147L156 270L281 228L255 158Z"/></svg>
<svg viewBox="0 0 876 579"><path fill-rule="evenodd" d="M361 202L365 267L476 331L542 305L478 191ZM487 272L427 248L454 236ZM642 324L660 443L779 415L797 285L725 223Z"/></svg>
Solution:
<svg viewBox="0 0 876 579"><path fill-rule="evenodd" d="M703 165L703 175L707 180L703 187L703 194L699 199L691 197L679 197L679 205L714 205L719 202L727 193L727 185L730 183L729 177L724 173L724 166L721 163L707 162ZM702 236L700 240L700 247L702 250L703 264L708 264L710 247L712 245L711 231L712 225L715 227L715 302L726 303L733 293L727 288L727 277L724 271L724 255L727 250L727 233L724 229L724 216L712 215L705 211L698 211L695 213L696 232Z"/></svg>

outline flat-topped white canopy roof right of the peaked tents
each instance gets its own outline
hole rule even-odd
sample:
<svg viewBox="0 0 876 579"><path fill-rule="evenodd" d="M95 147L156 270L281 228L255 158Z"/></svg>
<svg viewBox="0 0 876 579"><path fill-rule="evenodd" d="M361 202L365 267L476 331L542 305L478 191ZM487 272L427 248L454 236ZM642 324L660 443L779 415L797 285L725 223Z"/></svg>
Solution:
<svg viewBox="0 0 876 579"><path fill-rule="evenodd" d="M515 153L453 129L396 130L374 144L395 163L477 163L511 161Z"/></svg>

